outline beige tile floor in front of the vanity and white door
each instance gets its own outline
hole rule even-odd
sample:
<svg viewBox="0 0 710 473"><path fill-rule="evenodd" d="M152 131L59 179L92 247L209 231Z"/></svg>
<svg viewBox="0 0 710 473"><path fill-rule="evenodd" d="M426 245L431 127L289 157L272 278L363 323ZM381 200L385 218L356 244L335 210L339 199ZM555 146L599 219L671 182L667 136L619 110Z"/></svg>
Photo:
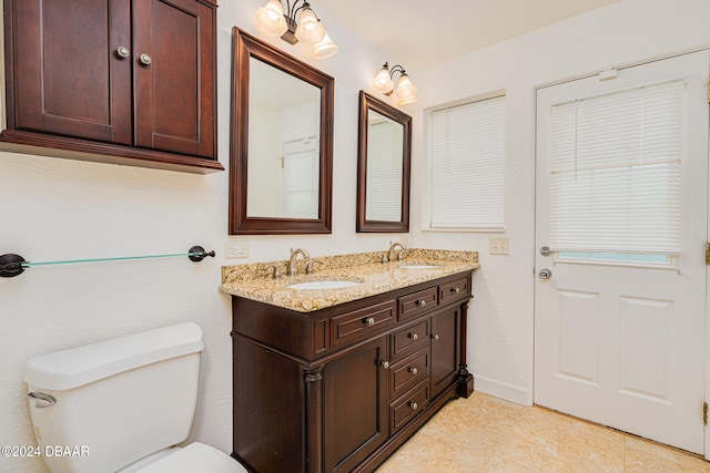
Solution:
<svg viewBox="0 0 710 473"><path fill-rule="evenodd" d="M479 392L446 404L376 473L710 472L703 459Z"/></svg>

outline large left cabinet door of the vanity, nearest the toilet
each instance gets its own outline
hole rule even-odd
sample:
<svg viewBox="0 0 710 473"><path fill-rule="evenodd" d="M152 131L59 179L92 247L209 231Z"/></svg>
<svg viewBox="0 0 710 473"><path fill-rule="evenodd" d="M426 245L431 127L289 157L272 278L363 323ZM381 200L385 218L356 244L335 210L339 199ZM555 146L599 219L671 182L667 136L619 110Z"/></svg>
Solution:
<svg viewBox="0 0 710 473"><path fill-rule="evenodd" d="M388 435L386 337L328 362L324 382L324 471L349 472Z"/></svg>

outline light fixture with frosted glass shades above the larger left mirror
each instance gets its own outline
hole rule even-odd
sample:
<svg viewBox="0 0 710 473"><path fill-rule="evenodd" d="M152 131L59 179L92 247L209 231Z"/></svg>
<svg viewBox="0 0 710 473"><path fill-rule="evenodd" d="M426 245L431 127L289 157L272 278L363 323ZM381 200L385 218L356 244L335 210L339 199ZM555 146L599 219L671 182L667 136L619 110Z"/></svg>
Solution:
<svg viewBox="0 0 710 473"><path fill-rule="evenodd" d="M301 6L298 6L302 3ZM296 16L298 20L296 21ZM286 10L281 0L268 0L256 10L256 25L261 31L295 44L298 41L313 47L313 56L328 58L337 52L325 27L311 8L307 0L286 0Z"/></svg>

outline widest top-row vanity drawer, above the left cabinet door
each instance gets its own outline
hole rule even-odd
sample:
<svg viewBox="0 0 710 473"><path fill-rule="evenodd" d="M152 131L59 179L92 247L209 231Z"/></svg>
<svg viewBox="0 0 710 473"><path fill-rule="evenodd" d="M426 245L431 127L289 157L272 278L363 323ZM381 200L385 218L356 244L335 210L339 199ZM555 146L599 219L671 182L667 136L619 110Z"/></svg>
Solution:
<svg viewBox="0 0 710 473"><path fill-rule="evenodd" d="M394 300L364 307L331 318L333 347L343 347L368 338L396 322Z"/></svg>

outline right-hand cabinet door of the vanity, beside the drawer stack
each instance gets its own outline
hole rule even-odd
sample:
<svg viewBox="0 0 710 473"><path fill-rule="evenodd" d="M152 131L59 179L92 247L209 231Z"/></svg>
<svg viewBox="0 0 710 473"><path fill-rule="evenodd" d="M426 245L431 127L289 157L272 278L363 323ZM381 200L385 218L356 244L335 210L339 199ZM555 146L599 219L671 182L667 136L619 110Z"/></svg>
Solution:
<svg viewBox="0 0 710 473"><path fill-rule="evenodd" d="M458 376L460 308L443 310L432 317L432 399L452 385Z"/></svg>

